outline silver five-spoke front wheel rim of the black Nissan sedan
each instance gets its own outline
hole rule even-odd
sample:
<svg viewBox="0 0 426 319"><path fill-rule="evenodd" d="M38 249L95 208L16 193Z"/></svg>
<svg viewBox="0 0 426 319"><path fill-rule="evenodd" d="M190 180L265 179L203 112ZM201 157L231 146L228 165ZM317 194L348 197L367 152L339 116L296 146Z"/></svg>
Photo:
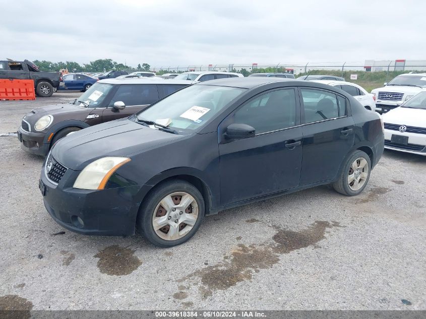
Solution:
<svg viewBox="0 0 426 319"><path fill-rule="evenodd" d="M152 216L155 233L164 240L187 235L198 219L198 204L190 194L176 192L164 197Z"/></svg>

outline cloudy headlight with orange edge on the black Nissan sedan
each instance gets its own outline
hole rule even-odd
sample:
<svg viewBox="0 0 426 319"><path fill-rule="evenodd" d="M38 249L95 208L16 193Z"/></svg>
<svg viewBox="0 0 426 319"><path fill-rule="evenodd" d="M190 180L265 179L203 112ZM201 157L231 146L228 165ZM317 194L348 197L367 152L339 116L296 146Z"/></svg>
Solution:
<svg viewBox="0 0 426 319"><path fill-rule="evenodd" d="M103 189L113 172L130 162L127 157L103 157L87 165L78 175L74 188Z"/></svg>

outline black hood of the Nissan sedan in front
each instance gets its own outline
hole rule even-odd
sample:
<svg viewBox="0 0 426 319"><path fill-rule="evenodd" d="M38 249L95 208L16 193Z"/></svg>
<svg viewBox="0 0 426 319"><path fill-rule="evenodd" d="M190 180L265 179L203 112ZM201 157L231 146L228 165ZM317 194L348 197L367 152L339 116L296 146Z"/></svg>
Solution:
<svg viewBox="0 0 426 319"><path fill-rule="evenodd" d="M124 118L66 136L54 145L52 155L64 166L80 171L99 158L129 156L182 137Z"/></svg>

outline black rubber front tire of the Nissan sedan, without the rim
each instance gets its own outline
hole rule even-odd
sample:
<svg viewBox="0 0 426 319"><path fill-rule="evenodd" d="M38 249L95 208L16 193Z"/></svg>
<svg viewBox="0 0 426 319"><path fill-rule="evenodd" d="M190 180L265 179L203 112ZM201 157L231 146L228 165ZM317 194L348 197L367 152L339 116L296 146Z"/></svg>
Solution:
<svg viewBox="0 0 426 319"><path fill-rule="evenodd" d="M154 231L152 226L152 216L158 203L167 195L175 192L185 192L190 194L197 201L198 219L191 231L177 240L164 240ZM205 215L205 204L200 191L191 183L184 180L173 180L164 182L155 187L142 203L137 219L137 227L142 235L151 243L159 247L172 247L188 241L197 232Z"/></svg>

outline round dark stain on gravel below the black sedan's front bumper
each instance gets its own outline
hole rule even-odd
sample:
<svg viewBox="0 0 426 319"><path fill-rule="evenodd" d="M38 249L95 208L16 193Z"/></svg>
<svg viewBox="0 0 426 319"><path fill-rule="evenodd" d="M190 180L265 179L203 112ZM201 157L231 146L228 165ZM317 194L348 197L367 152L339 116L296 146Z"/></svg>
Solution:
<svg viewBox="0 0 426 319"><path fill-rule="evenodd" d="M99 258L97 267L101 273L124 276L131 274L142 265L134 253L133 249L112 245L100 250L94 257Z"/></svg>

